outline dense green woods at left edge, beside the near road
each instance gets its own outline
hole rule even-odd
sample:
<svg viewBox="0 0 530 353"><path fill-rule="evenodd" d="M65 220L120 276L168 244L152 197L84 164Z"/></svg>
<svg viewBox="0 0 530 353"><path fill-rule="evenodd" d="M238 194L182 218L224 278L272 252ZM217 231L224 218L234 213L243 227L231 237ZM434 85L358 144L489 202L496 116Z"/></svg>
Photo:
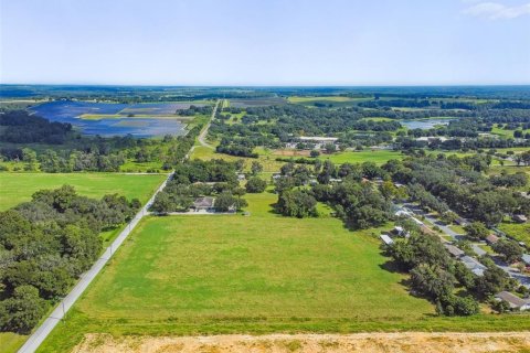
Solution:
<svg viewBox="0 0 530 353"><path fill-rule="evenodd" d="M102 231L131 220L137 199L102 200L74 188L41 190L0 213L0 329L29 333L102 250Z"/></svg>

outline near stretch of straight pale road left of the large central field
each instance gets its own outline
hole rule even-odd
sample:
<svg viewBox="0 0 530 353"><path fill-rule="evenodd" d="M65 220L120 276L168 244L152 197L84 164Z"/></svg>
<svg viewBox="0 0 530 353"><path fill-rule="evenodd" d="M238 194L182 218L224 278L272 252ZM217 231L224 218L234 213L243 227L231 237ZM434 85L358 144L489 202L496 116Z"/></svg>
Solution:
<svg viewBox="0 0 530 353"><path fill-rule="evenodd" d="M105 253L97 259L97 261L92 266L92 268L83 274L80 278L80 281L72 291L57 304L55 310L47 317L46 320L36 329L35 332L25 341L24 345L19 350L19 353L30 353L34 352L39 345L44 341L44 339L52 332L55 325L63 319L64 314L68 311L74 302L81 297L83 291L88 287L88 285L94 280L94 278L99 274L105 264L110 259L116 249L124 243L130 232L136 227L140 220L147 215L149 206L155 201L155 196L166 186L167 182L172 174L169 174L166 181L157 189L151 199L146 203L146 205L136 214L136 216L127 224L124 231L116 237L116 239L105 249Z"/></svg>

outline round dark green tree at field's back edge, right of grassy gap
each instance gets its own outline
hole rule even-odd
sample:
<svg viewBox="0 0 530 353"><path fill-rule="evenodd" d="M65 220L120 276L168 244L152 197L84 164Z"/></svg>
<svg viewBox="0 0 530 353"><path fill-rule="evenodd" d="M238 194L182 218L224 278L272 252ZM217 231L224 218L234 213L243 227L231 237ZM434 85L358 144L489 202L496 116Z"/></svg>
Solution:
<svg viewBox="0 0 530 353"><path fill-rule="evenodd" d="M317 215L317 201L304 190L286 190L278 195L276 210L284 216L310 217Z"/></svg>

